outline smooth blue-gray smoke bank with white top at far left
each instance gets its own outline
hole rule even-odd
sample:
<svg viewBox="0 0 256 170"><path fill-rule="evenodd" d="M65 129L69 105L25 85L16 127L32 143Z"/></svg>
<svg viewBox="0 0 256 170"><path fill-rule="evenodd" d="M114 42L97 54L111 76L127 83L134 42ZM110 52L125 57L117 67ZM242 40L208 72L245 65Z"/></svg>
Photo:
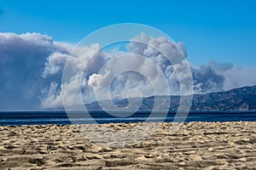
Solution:
<svg viewBox="0 0 256 170"><path fill-rule="evenodd" d="M61 80L42 77L45 63L55 53L67 51L51 37L38 33L0 33L0 109L39 109L41 90Z"/></svg>

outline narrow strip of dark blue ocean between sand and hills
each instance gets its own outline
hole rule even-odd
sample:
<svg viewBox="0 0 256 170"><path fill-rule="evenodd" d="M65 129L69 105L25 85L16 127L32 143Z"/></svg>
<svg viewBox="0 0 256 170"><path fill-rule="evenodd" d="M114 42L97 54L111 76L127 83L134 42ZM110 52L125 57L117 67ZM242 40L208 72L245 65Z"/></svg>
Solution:
<svg viewBox="0 0 256 170"><path fill-rule="evenodd" d="M74 112L72 117L67 116L65 111L1 111L0 125L34 125L34 124L72 124L72 123L90 123L88 120L94 120L96 123L109 122L145 122L150 113L137 112L132 116L125 118L108 115L106 112L92 112L90 116L84 116L84 113ZM167 116L161 114L150 116L148 122L173 122L175 113L168 113ZM238 121L256 121L256 111L210 111L210 112L190 112L187 117L180 117L185 122L238 122ZM72 122L70 120L73 120Z"/></svg>

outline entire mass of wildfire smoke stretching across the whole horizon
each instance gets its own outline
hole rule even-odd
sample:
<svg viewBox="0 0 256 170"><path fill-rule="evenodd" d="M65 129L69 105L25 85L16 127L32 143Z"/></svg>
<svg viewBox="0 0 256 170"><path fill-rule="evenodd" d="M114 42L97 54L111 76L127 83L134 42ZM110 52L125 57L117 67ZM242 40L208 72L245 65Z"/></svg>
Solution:
<svg viewBox="0 0 256 170"><path fill-rule="evenodd" d="M177 47L187 56L183 42L170 42L166 37L148 37L141 34L131 40L142 43L129 42L127 52L114 50L113 53L104 52L100 44L89 47L79 47L71 55L73 45L65 42L55 42L49 36L39 33L0 33L0 110L39 110L62 105L61 96L67 94L67 101L71 105L78 105L78 89L82 88L85 103L96 100L94 88L100 89L102 99L108 90L109 77L121 67L131 68L140 72L147 72L143 77L137 72L125 72L115 77L111 83L113 99L123 99L131 89L136 88L143 96L166 94L166 87L160 82L160 72L152 67L148 59L158 65L169 83L171 94L179 94L180 84L175 70L184 69L183 61L176 62ZM174 63L170 63L163 54L154 48L160 48ZM96 55L90 59L91 54ZM108 61L119 54L130 53L127 59L116 59L114 63ZM138 59L142 55L145 59ZM70 80L61 84L61 76L67 59L72 59ZM84 71L84 62L89 66ZM105 65L105 64L108 65ZM100 71L105 65L105 70ZM230 63L210 62L200 68L191 66L194 80L194 93L204 94L256 84L253 78L255 68L238 68ZM83 72L83 78L79 75ZM250 77L250 75L252 77ZM250 78L248 78L250 77ZM186 78L185 76L183 78ZM154 92L154 82L160 91ZM65 87L63 91L61 87ZM129 97L136 97L132 94Z"/></svg>

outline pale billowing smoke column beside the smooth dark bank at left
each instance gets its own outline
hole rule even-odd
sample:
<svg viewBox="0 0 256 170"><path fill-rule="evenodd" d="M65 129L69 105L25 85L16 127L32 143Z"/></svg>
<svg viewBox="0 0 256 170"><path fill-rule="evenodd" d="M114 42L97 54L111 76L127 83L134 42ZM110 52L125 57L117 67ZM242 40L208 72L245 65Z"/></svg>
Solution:
<svg viewBox="0 0 256 170"><path fill-rule="evenodd" d="M91 55L93 55L92 58ZM92 94L92 88L88 85L88 78L95 77L96 72L101 68L104 62L105 55L102 53L102 50L99 44L92 44L90 47L76 48L73 55L67 54L50 55L45 63L43 77L55 77L55 74L63 71L63 68L66 64L67 58L69 57L68 65L69 68L72 68L69 72L71 77L68 77L63 82L58 81L57 85L49 87L48 90L45 90L44 95L42 95L42 107L57 107L62 105L62 94L65 95L68 105L82 105L79 103L79 94L81 88L84 89L83 98L86 101L91 102L95 100ZM55 58L56 57L56 58ZM84 71L85 63L88 62L88 68ZM84 79L81 80L81 74L84 74ZM62 76L62 75L60 75ZM96 75L96 77L99 77ZM99 78L98 78L99 79ZM89 81L92 83L91 81ZM62 84L61 84L62 83ZM97 82L99 83L99 82ZM61 88L62 86L62 88ZM58 88L56 88L58 87ZM52 89L55 89L55 93L52 93Z"/></svg>

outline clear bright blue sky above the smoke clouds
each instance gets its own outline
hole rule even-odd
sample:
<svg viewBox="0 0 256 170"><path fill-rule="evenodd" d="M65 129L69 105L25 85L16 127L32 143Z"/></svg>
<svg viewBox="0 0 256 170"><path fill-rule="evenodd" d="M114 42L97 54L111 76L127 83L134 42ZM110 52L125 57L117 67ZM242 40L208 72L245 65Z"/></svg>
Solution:
<svg viewBox="0 0 256 170"><path fill-rule="evenodd" d="M254 67L256 1L0 1L0 31L40 32L79 42L103 26L132 22L154 26L183 41L189 61Z"/></svg>

